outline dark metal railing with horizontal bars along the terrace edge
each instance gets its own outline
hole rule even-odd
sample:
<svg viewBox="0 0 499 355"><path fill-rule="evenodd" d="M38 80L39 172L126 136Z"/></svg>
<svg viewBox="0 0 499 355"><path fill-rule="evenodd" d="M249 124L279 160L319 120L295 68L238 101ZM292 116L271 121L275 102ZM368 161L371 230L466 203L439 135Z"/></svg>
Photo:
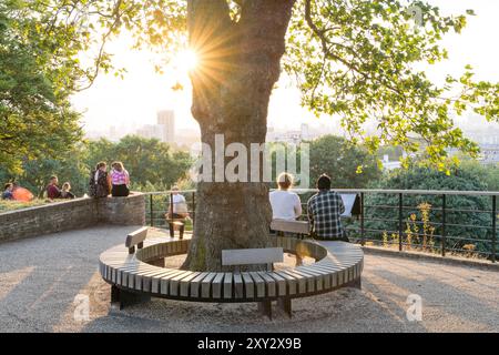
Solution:
<svg viewBox="0 0 499 355"><path fill-rule="evenodd" d="M294 190L301 195L306 220L306 201L316 190ZM361 245L395 247L398 251L422 251L458 254L497 261L497 196L488 191L370 190L336 189L356 193L360 214L343 219L350 241ZM195 190L180 191L195 223ZM166 226L172 203L171 191L145 193L146 221Z"/></svg>

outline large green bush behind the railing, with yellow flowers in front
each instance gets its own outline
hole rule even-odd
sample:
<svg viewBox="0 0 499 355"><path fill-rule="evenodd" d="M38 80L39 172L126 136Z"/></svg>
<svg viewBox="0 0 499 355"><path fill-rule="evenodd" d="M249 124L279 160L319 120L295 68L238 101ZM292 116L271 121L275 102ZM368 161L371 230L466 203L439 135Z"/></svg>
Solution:
<svg viewBox="0 0 499 355"><path fill-rule="evenodd" d="M481 170L475 165L461 165L451 168L450 175L436 169L428 169L414 164L408 170L397 170L387 174L380 180L378 189L401 189L401 190L448 190L448 191L483 191L487 190L487 182L481 175ZM388 233L398 231L398 194L368 194L366 195L366 229L386 230ZM430 207L428 207L430 205ZM481 252L490 252L490 243L479 240L490 240L490 231L483 226L491 226L491 213L478 211L491 211L491 201L487 196L447 196L447 241L448 248L462 248L464 245L472 243ZM378 206L378 207L376 207ZM384 207L383 207L384 206ZM393 206L393 207L386 207ZM404 230L407 224L418 221L419 233L426 229L426 234L431 232L435 246L440 245L442 200L440 195L404 195ZM422 209L421 206L426 206ZM469 212L455 212L455 210L470 210ZM475 212L477 211L477 212ZM414 216L413 216L414 215ZM413 216L413 217L411 217ZM368 221L371 219L393 220ZM429 224L428 224L429 223ZM456 226L461 224L467 226ZM429 230L434 226L435 230ZM379 232L368 232L368 237L380 240ZM452 240L450 237L462 237L464 240ZM414 241L414 227L411 237ZM407 242L405 235L404 242ZM421 236L422 243L422 236ZM413 243L414 244L414 243Z"/></svg>

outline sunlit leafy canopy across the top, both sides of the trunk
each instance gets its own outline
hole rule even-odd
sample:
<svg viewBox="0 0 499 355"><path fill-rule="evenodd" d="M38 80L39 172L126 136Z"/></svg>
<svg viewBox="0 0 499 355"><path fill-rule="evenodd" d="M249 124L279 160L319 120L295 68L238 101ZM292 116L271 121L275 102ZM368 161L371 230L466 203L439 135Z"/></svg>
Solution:
<svg viewBox="0 0 499 355"><path fill-rule="evenodd" d="M460 33L472 10L447 17L425 1L279 1L294 3L283 68L297 79L304 105L316 114L342 120L353 140L364 141L373 151L383 144L399 145L407 152L424 150L440 170L446 169L446 148L471 155L478 152L477 145L455 128L452 116L473 110L497 120L499 85L475 81L471 67L465 68L460 78L447 77L441 85L415 69L419 63L447 59L439 41L448 32ZM2 2L2 160L13 152L28 153L23 146L33 153L62 143L64 138L63 143L68 143L68 138L73 138L68 134L75 131L68 95L91 85L100 71L123 74L106 43L128 31L136 48L154 48L165 59L171 58L186 45L187 8L200 3L212 8L221 21L230 21L234 30L251 20L251 7L259 6L245 0ZM408 11L414 8L421 13L418 23ZM278 21L282 14L273 17ZM206 29L204 42L208 40ZM212 44L212 49L221 47ZM203 58L207 53L204 49L194 50L201 62L211 60ZM82 52L91 59L81 61ZM214 55L213 50L210 55ZM227 55L217 53L220 58ZM363 131L368 120L377 122L374 136ZM37 125L47 128L41 131ZM61 130L65 132L58 132ZM50 132L52 141L43 140L43 134L35 134L35 140L24 132ZM14 133L17 138L12 138Z"/></svg>

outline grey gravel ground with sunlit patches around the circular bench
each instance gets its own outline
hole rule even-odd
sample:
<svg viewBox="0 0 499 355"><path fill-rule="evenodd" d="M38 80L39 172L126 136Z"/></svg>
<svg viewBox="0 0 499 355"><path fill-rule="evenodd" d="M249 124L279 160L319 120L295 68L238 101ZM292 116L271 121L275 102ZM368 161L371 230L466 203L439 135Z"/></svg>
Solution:
<svg viewBox="0 0 499 355"><path fill-rule="evenodd" d="M499 332L498 272L379 255L366 255L361 291L294 300L291 320L259 317L252 303L153 300L111 310L98 256L132 230L99 226L0 244L0 332ZM410 294L422 300L420 322L406 317ZM79 312L86 302L88 320Z"/></svg>

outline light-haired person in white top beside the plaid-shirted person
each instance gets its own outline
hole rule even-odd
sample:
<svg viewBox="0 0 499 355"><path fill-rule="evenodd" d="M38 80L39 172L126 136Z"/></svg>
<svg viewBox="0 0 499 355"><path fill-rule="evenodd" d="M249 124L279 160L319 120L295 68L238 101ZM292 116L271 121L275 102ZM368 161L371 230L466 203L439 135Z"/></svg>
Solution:
<svg viewBox="0 0 499 355"><path fill-rule="evenodd" d="M271 192L272 217L294 221L302 215L299 196L288 191L293 185L293 175L281 173L277 178L278 190Z"/></svg>

